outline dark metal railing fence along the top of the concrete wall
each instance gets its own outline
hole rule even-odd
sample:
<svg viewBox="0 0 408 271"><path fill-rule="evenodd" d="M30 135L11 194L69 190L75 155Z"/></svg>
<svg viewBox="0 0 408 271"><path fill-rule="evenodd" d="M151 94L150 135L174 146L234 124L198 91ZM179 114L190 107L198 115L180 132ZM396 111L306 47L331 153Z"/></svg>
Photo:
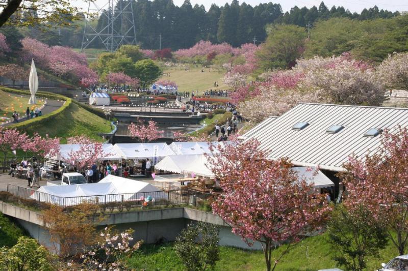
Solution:
<svg viewBox="0 0 408 271"><path fill-rule="evenodd" d="M83 202L100 205L101 208L115 207L116 203L123 203L120 207L139 207L152 205L199 205L204 200L211 200L214 195L190 189L167 190L156 192L122 193L93 196L60 197L34 189L7 184L7 191L17 198L36 202L52 203L62 207L74 206ZM117 206L116 206L117 207Z"/></svg>

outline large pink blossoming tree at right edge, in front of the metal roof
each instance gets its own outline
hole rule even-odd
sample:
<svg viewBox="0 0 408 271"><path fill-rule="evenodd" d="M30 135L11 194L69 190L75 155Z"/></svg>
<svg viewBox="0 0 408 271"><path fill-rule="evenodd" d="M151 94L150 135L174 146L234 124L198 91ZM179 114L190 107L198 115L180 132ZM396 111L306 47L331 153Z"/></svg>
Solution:
<svg viewBox="0 0 408 271"><path fill-rule="evenodd" d="M408 130L384 130L381 145L365 157L350 156L344 165L344 204L365 206L387 227L392 244L403 255L408 242Z"/></svg>

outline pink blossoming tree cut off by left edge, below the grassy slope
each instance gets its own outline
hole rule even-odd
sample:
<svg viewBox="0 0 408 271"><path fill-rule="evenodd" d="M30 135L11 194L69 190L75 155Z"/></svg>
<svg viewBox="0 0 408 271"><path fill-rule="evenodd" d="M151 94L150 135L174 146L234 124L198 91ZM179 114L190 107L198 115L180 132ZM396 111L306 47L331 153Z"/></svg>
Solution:
<svg viewBox="0 0 408 271"><path fill-rule="evenodd" d="M28 135L19 132L17 129L4 129L0 127L0 152L3 153L4 163L7 162L7 155L12 150L29 149Z"/></svg>

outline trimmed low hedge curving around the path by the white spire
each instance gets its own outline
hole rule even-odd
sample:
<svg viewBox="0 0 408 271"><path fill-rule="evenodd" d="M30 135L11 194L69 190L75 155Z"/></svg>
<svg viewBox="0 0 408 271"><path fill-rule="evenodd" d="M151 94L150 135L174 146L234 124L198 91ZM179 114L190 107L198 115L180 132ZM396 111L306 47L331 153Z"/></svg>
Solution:
<svg viewBox="0 0 408 271"><path fill-rule="evenodd" d="M4 92L20 94L20 95L30 95L30 92L20 91L19 89L13 89L13 88L8 88L8 87L0 87L0 89L2 91L4 91ZM53 111L53 112L51 112L49 114L42 115L42 116L32 118L32 119L28 119L27 121L10 125L7 128L24 129L24 128L28 127L28 126L40 125L42 123L47 122L48 119L55 118L58 114L64 112L72 102L71 98L68 98L68 97L65 97L65 96L62 96L62 95L58 95L58 94L51 94L51 93L46 93L46 92L37 92L36 96L37 97L42 97L42 98L63 100L63 101L65 101L65 103L60 108L58 108L57 110L55 110L55 111Z"/></svg>

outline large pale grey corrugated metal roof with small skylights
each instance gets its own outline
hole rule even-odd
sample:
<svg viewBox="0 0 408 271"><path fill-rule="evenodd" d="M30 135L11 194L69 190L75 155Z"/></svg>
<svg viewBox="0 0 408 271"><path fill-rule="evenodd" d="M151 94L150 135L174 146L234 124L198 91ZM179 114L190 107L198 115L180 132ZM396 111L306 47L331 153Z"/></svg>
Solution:
<svg viewBox="0 0 408 271"><path fill-rule="evenodd" d="M293 130L298 122L309 126ZM344 129L326 133L333 125ZM244 142L258 139L260 148L270 151L271 159L288 157L295 165L342 171L349 155L364 157L369 149L380 145L380 136L367 137L364 133L398 125L408 127L408 109L302 103L276 119L267 118L243 136Z"/></svg>

